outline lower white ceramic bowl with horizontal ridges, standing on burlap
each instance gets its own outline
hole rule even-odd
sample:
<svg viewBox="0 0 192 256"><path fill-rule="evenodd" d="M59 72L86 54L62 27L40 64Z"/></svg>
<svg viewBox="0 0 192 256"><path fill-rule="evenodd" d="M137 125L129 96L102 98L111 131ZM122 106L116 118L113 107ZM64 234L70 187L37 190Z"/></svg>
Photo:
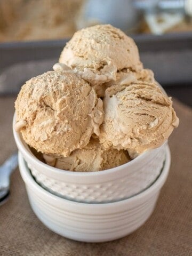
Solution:
<svg viewBox="0 0 192 256"><path fill-rule="evenodd" d="M157 180L140 194L114 203L87 204L69 201L39 186L19 153L19 168L31 207L37 217L57 234L83 242L105 242L138 229L153 212L159 191L169 173L170 151Z"/></svg>

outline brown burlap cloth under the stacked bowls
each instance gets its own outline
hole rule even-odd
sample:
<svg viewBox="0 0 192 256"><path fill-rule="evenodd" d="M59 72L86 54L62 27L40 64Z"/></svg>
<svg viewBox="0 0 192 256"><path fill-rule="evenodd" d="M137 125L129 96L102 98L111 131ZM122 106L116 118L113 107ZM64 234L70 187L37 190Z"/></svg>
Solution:
<svg viewBox="0 0 192 256"><path fill-rule="evenodd" d="M0 162L16 149L12 136L14 98L0 98ZM174 101L180 125L170 138L172 164L150 219L135 231L108 243L81 243L47 229L35 216L19 171L11 179L9 201L0 206L0 255L192 255L192 110Z"/></svg>

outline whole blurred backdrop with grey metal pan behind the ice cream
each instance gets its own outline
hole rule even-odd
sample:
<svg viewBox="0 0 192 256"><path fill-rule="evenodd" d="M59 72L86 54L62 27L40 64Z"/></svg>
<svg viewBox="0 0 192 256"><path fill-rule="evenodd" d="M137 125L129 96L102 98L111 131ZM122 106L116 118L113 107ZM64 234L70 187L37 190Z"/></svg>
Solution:
<svg viewBox="0 0 192 256"><path fill-rule="evenodd" d="M192 105L191 0L0 0L0 94L51 69L76 30L99 23L131 35L145 67Z"/></svg>

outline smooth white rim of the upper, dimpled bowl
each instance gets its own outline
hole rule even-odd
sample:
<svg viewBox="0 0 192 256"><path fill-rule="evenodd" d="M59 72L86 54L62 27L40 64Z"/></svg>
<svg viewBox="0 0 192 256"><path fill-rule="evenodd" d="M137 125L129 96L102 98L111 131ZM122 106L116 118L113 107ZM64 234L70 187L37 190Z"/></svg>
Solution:
<svg viewBox="0 0 192 256"><path fill-rule="evenodd" d="M33 163L35 165L37 164L39 167L42 167L43 169L46 168L47 171L50 171L50 172L52 172L54 174L58 174L58 175L66 174L71 177L73 177L73 176L75 176L75 177L90 177L91 176L92 177L93 175L100 176L103 174L106 175L106 174L115 173L116 171L121 171L121 170L125 169L126 167L131 167L131 166L135 165L137 162L142 163L143 159L148 159L149 156L151 155L151 153L153 153L155 150L159 150L162 147L164 147L165 145L167 145L167 140L166 140L158 148L149 149L149 150L145 151L144 153L142 153L141 155L137 156L136 158L132 159L130 162L116 166L111 169L102 170L102 171L94 171L94 172L73 172L73 171L61 170L56 167L52 167L48 164L43 163L37 157L35 157L33 155L33 153L30 151L27 143L22 139L21 133L15 131L15 129L14 129L15 120L16 120L16 113L14 113L14 116L13 116L12 129L13 129L13 135L14 135L15 142L17 144L18 149L21 151L22 155L24 157L26 157L27 159L30 159L31 163ZM150 159L149 159L149 161L150 161Z"/></svg>

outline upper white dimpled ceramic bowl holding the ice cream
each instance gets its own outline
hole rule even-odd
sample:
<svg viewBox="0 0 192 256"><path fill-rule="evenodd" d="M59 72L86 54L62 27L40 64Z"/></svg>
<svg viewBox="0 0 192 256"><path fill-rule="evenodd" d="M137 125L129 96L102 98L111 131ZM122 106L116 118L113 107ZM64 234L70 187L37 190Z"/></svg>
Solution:
<svg viewBox="0 0 192 256"><path fill-rule="evenodd" d="M23 141L21 133L13 129L13 134L37 183L55 195L76 202L116 202L136 195L154 182L165 161L166 143L113 169L100 172L63 171L39 161Z"/></svg>

